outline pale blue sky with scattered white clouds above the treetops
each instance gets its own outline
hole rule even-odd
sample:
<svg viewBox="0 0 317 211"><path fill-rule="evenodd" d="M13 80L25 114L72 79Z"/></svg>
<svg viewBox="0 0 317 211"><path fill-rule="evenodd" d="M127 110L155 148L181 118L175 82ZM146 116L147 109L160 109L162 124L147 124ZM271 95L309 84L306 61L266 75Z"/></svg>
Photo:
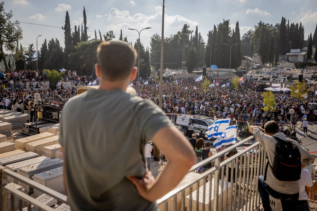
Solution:
<svg viewBox="0 0 317 211"><path fill-rule="evenodd" d="M140 34L141 43L150 47L150 37L162 32L162 5L163 1L157 0L4 0L4 9L12 10L12 20L18 20L23 29L23 47L34 43L36 47L37 35L38 48L43 40L52 37L60 40L64 47L64 31L61 28L65 24L65 14L68 10L71 28L76 24L81 25L83 20L83 7L87 15L88 35L94 37L94 29L102 34L113 30L116 39L119 39L120 29L123 37L133 44L138 38L136 31L128 28L143 29ZM214 1L165 1L165 26L164 36L176 34L187 23L191 30L198 26L207 42L207 34L213 29L213 25L230 20L231 27L239 21L240 34L254 29L258 22L281 22L284 16L290 23L302 23L305 28L305 39L310 33L314 34L317 23L316 0L306 0L304 3L295 0L214 0ZM34 25L34 24L42 25ZM97 35L99 37L99 35Z"/></svg>

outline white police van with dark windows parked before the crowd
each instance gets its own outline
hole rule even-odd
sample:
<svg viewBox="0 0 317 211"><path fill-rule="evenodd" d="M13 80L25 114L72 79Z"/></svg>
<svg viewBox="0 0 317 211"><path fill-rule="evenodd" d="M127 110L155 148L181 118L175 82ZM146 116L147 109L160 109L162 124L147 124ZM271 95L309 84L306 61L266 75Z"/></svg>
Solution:
<svg viewBox="0 0 317 211"><path fill-rule="evenodd" d="M194 133L200 133L200 131L203 131L203 133L206 134L208 126L215 123L212 118L204 115L178 115L175 125L185 135L188 133L188 124L190 119L193 120Z"/></svg>

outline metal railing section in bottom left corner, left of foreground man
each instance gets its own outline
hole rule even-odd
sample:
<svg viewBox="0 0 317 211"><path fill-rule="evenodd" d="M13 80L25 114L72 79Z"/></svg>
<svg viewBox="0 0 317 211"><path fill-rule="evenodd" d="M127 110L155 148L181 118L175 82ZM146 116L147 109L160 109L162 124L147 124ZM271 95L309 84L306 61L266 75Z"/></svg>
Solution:
<svg viewBox="0 0 317 211"><path fill-rule="evenodd" d="M32 196L14 189L10 185L8 185L8 177L14 178L33 189L37 189L46 193L47 195L55 198L58 202L67 203L66 195L63 195L53 189L50 189L40 183L37 183L27 177L23 177L22 175L17 174L14 171L6 169L4 166L0 165L0 211L7 211L7 210L16 210L16 204L18 205L18 210L22 210L24 207L27 207L28 210L31 210L32 207L36 208L37 211L45 210L45 211L53 211L54 208L51 208L42 202L36 200ZM8 200L8 194L10 193L10 200ZM16 203L15 200L18 200Z"/></svg>

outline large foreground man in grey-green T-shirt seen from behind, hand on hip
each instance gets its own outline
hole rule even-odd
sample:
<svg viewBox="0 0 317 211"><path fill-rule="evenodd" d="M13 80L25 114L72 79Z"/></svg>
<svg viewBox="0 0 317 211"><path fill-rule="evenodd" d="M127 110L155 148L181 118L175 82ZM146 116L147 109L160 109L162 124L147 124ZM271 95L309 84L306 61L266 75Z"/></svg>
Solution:
<svg viewBox="0 0 317 211"><path fill-rule="evenodd" d="M190 143L162 109L125 92L138 72L136 58L127 42L102 42L95 65L99 89L89 89L63 107L59 143L72 210L158 210L155 201L194 164ZM169 159L156 179L144 162L148 140Z"/></svg>

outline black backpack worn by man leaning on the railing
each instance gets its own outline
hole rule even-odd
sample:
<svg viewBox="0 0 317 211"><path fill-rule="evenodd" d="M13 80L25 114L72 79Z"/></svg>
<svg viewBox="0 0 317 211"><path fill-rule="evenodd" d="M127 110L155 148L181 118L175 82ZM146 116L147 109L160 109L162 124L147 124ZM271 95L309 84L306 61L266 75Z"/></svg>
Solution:
<svg viewBox="0 0 317 211"><path fill-rule="evenodd" d="M273 166L267 162L265 178L270 165L273 175L280 181L297 181L301 178L301 153L291 141L284 141L278 137L275 147Z"/></svg>

